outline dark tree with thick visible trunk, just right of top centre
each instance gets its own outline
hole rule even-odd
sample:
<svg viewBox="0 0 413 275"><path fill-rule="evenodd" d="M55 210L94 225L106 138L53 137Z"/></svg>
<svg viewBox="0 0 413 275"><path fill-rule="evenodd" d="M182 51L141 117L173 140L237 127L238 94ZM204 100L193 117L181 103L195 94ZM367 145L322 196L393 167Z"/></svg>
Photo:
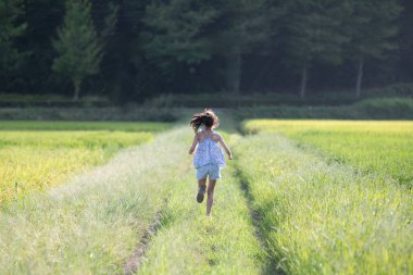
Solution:
<svg viewBox="0 0 413 275"><path fill-rule="evenodd" d="M270 41L274 13L266 0L223 0L216 10L220 13L212 37L214 52L226 59L227 90L238 93L242 57L262 50Z"/></svg>

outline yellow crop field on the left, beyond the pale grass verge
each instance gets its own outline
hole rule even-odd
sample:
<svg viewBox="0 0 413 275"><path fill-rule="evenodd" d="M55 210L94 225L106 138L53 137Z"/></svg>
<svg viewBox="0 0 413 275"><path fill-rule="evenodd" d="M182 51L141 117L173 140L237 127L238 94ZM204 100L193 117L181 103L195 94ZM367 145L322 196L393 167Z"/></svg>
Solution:
<svg viewBox="0 0 413 275"><path fill-rule="evenodd" d="M60 184L167 127L163 123L2 122L0 203Z"/></svg>

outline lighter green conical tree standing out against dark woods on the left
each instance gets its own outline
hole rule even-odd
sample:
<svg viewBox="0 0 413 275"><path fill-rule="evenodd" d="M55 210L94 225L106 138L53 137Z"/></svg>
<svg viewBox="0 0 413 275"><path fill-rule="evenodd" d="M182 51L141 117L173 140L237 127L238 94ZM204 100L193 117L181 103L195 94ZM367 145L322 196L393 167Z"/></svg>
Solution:
<svg viewBox="0 0 413 275"><path fill-rule="evenodd" d="M92 25L88 0L67 0L63 26L58 29L53 47L59 57L53 70L67 75L74 85L74 100L78 100L83 80L99 72L103 43Z"/></svg>

